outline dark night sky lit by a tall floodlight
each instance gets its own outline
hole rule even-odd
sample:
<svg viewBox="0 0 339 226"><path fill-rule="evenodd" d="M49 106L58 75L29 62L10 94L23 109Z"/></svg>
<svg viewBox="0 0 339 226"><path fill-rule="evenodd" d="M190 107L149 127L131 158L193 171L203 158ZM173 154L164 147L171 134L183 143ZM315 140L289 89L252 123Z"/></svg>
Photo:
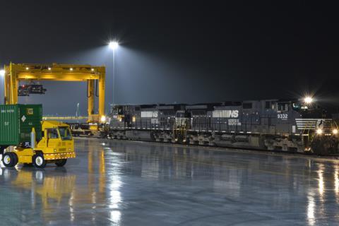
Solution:
<svg viewBox="0 0 339 226"><path fill-rule="evenodd" d="M318 1L3 1L0 64L107 66L117 103L296 98L339 103L338 8ZM46 114L86 111L85 83L20 98Z"/></svg>

